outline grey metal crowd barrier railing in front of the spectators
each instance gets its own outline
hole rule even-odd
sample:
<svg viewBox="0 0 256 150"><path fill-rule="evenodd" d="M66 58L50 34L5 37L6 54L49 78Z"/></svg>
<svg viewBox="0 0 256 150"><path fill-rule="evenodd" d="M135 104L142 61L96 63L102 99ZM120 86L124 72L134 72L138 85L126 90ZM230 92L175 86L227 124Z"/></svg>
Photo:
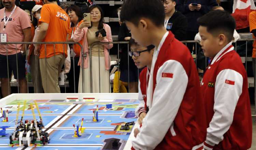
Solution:
<svg viewBox="0 0 256 150"><path fill-rule="evenodd" d="M240 40L238 40L238 41L244 41L245 42L245 58L244 58L244 60L245 60L245 68L246 68L246 70L247 70L247 61L251 61L252 59L251 59L251 57L247 57L248 56L248 49L247 49L247 45L248 45L248 41L254 41L255 39L240 39ZM195 43L195 46L194 46L194 51L195 51L195 56L194 56L194 59L196 60L195 61L195 63L196 63L196 65L197 65L197 49L198 49L198 47L199 47L199 45L198 45L198 43L199 43L199 41L181 41L182 43L184 43L185 45L187 45L188 43ZM16 63L17 63L17 44L25 44L25 45L29 45L29 44L44 44L45 45L45 51L46 51L46 47L47 47L47 45L49 45L49 44L53 44L54 45L54 50L55 50L55 45L56 44L62 44L63 45L63 53L64 53L64 49L65 49L65 44L72 44L72 45L74 45L74 44L78 44L80 47L81 47L81 51L82 51L82 57L85 59L87 56L88 56L88 54L87 53L85 53L84 54L84 50L83 50L83 47L82 47L82 45L80 44L80 43L75 43L75 42L0 42L0 44L2 44L2 45L6 45L6 44L15 44L15 46L16 46ZM118 44L118 49L117 49L117 59L119 60L120 59L120 57L119 57L119 44L127 44L127 51L129 51L129 45L128 45L128 42L95 42L95 43L93 43L92 45L91 45L91 47L90 47L90 49L89 49L89 66L88 67L90 67L90 70L89 70L89 75L90 75L90 77L94 77L94 75L93 75L93 71L92 71L92 68L93 68L93 62L92 62L92 48L94 47L94 46L97 46L97 45L100 45L100 44ZM1 45L1 46L2 46ZM6 48L6 47L5 47ZM99 49L99 48L98 48ZM235 50L237 51L237 42L235 43ZM27 46L26 46L26 51L27 51ZM110 49L108 49L108 51L109 51L109 53L110 53ZM46 52L45 52L46 53ZM55 53L55 52L54 52ZM100 53L100 51L98 51L98 54ZM130 62L129 62L129 55L128 55L128 52L127 52L127 58L128 58L128 62L127 62L127 65L128 65L128 92L129 92L129 90L130 90L130 69L129 69L129 67L130 67ZM6 48L6 59L7 59L7 63L9 63L8 62L8 49ZM81 67L82 67L82 91L84 92L84 59L82 59L82 65L81 65ZM110 62L110 57L108 58L109 60L108 60L108 62ZM99 64L98 64L98 68L99 68L99 92L101 92L101 88L100 88L100 83L101 83L101 76L100 76L100 67L101 67L101 65L100 65L100 57L99 57ZM37 61L39 61L38 59L37 59ZM46 61L46 59L45 59L45 61ZM65 63L64 63L65 64ZM9 65L9 64L8 64ZM19 77L18 77L18 65L16 64L16 66L17 66L17 80L19 80ZM75 63L74 63L74 57L73 57L73 68L74 68L74 66L75 66ZM205 67L207 67L207 58L205 58ZM66 66L64 65L64 68L66 68ZM109 63L109 68L110 68L110 63ZM119 71L119 63L118 63L118 71ZM9 68L8 68L8 70L9 70ZM256 70L256 69L255 69ZM37 71L37 73L38 73L38 71ZM75 71L73 70L73 75L74 75L74 91L76 92L76 89L75 89L75 87L76 87L76 85L75 85ZM138 77L139 77L139 73L138 73ZM9 79L9 71L8 71L8 81L9 81L10 79ZM28 80L28 77L27 77L27 80ZM110 80L108 80L109 81L109 85L110 85ZM33 81L34 82L34 81ZM36 83L38 82L38 81L35 81ZM118 74L118 82L119 82L119 74ZM119 85L119 83L118 83L118 85ZM91 80L90 80L90 92L93 92L93 80L92 80L92 78L91 78ZM255 82L255 79L254 79L254 87L256 87L256 82ZM8 90L9 90L9 94L10 94L10 84L8 84ZM28 85L27 85L27 90L28 90ZM29 92L29 90L28 90L28 92ZM65 82L65 92L66 92L66 82ZM110 91L111 92L111 91ZM255 88L255 91L254 91L255 93L256 93L256 88ZM19 93L19 81L18 81L18 93ZM254 94L254 101L255 101L255 114L256 114L256 94Z"/></svg>

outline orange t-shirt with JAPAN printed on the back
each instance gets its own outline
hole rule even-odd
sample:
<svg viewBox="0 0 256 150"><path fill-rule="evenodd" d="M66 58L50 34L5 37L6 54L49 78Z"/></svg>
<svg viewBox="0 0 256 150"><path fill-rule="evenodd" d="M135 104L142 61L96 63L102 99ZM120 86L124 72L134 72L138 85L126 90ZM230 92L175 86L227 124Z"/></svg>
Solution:
<svg viewBox="0 0 256 150"><path fill-rule="evenodd" d="M46 36L42 42L66 42L70 30L70 20L68 14L56 4L45 4L41 10L39 23L49 24ZM63 54L67 57L67 44L41 44L39 58L49 58L54 55Z"/></svg>

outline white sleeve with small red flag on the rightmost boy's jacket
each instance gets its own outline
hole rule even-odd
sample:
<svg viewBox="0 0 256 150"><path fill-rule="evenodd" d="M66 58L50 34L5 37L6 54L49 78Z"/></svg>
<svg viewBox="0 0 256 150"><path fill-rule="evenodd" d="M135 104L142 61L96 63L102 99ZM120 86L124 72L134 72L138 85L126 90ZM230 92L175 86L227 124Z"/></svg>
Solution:
<svg viewBox="0 0 256 150"><path fill-rule="evenodd" d="M242 94L243 77L240 73L225 69L216 78L214 115L207 129L207 142L219 144L233 122L234 110Z"/></svg>

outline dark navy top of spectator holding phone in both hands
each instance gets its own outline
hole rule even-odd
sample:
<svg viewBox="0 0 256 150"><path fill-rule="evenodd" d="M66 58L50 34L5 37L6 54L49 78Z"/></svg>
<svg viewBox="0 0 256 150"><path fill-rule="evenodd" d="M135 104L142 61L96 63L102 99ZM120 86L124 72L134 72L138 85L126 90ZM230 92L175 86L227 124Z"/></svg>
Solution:
<svg viewBox="0 0 256 150"><path fill-rule="evenodd" d="M191 3L201 4L201 9L199 11L190 11L188 5ZM176 9L187 17L187 31L198 32L197 18L207 14L213 6L218 6L216 0L177 0Z"/></svg>

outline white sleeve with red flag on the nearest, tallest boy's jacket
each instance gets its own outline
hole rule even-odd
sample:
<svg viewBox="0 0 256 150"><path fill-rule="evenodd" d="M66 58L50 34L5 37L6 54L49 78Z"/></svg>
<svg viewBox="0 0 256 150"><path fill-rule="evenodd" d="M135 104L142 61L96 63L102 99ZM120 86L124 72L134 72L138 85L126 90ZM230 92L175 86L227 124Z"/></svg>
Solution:
<svg viewBox="0 0 256 150"><path fill-rule="evenodd" d="M168 60L158 69L156 82L152 107L132 141L134 149L152 150L162 141L180 108L188 76L180 62Z"/></svg>

